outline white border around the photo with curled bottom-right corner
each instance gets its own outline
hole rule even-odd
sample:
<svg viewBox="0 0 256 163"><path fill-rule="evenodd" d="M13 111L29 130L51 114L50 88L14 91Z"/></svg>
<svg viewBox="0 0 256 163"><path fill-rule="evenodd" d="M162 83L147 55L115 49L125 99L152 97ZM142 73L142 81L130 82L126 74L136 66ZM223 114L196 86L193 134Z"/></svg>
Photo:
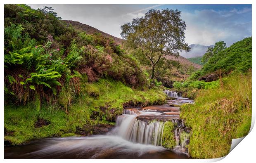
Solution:
<svg viewBox="0 0 256 163"><path fill-rule="evenodd" d="M1 32L1 46L2 46L2 51L4 49L4 33L3 33L3 15L4 15L4 5L3 4L252 4L252 29L256 29L256 26L255 26L255 16L256 16L256 1L255 0L147 0L147 1L142 1L142 0L109 0L109 1L104 1L104 0L93 0L93 1L85 1L85 0L62 0L62 1L57 1L57 0L2 0L1 1L1 14L2 14L2 17L0 17L1 19L1 23L2 23L2 32ZM255 72L254 72L254 69L255 69L255 32L254 30L252 31L252 41L253 41L253 54L252 54L252 83L255 83ZM4 139L4 97L3 97L3 94L4 94L4 80L3 80L3 76L4 76L4 60L3 60L3 54L2 54L2 57L0 57L0 69L1 69L1 80L0 80L0 85L1 85L1 88L0 88L0 91L1 91L1 104L2 104L2 110L1 110L1 128L0 130L2 131L2 141L0 141L1 143L1 147L2 147L2 153L1 153L1 158L4 159L4 142L3 142L3 139ZM252 85L252 90L256 90L256 87L255 85ZM255 91L253 91L252 93L252 101L255 102ZM255 123L255 115L256 115L256 110L255 110L255 103L252 104L252 124L254 125ZM222 158L215 158L215 159L190 159L190 160L183 160L183 159L133 159L133 160L130 160L130 159L104 159L104 160L91 160L91 159L86 159L86 160L79 160L79 159L76 159L76 160L67 160L67 159L19 159L19 160L12 160L12 159L5 159L4 161L5 162L38 162L38 163L43 163L45 161L47 162L62 162L62 163L68 163L68 162L80 162L80 161L86 161L86 162L111 162L111 163L117 163L117 162L120 162L122 161L122 163L127 163L127 162L130 162L130 161L135 161L135 162L158 162L158 161L161 161L161 162L192 162L192 163L198 163L198 162L214 162L214 161L219 161L221 160L220 162L221 163L226 163L226 162L252 162L252 160L254 160L254 155L255 155L255 137L256 137L256 129L253 128L253 125L251 126L251 132L249 133L249 135L247 135L241 143L239 143L237 145L237 147L235 147L231 152L230 154L228 154L227 156L223 157L224 159ZM202 142L203 143L203 142Z"/></svg>

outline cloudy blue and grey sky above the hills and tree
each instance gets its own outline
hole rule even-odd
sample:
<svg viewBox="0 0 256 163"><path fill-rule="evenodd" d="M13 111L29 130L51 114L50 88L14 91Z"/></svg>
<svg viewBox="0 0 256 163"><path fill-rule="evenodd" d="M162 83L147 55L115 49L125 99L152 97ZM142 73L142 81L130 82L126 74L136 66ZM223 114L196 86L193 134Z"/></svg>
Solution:
<svg viewBox="0 0 256 163"><path fill-rule="evenodd" d="M251 36L251 5L29 5L52 7L64 20L79 21L121 38L121 26L149 9L178 9L187 25L185 41L190 44L228 46Z"/></svg>

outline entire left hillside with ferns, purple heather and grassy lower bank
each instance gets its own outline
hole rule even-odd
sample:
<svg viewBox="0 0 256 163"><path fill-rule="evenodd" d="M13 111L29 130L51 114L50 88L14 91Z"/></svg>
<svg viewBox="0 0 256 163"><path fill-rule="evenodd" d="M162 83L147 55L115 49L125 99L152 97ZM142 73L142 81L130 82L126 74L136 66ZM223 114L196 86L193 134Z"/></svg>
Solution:
<svg viewBox="0 0 256 163"><path fill-rule="evenodd" d="M106 33L68 28L55 14L27 5L5 5L4 18L5 141L10 144L91 135L90 128L113 125L124 106L165 102L160 87L150 89L140 63Z"/></svg>

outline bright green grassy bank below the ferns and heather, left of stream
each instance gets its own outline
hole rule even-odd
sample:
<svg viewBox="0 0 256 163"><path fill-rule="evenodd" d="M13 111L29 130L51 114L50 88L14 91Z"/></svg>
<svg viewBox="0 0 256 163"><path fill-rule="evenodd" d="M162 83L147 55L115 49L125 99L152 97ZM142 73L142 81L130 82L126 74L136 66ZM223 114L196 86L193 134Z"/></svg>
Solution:
<svg viewBox="0 0 256 163"><path fill-rule="evenodd" d="M160 90L133 90L110 79L87 83L81 92L71 105L67 105L68 114L57 104L42 104L40 111L35 109L33 102L26 106L6 105L5 140L17 145L29 139L75 135L76 129L83 125L114 125L111 120L122 113L123 104L162 104L166 98ZM36 128L38 119L46 120L49 125Z"/></svg>

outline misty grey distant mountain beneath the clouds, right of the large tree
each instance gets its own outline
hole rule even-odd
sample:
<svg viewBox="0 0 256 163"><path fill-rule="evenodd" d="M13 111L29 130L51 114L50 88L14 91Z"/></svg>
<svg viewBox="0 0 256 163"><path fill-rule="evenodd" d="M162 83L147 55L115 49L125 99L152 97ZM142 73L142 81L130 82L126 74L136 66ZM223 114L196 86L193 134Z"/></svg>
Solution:
<svg viewBox="0 0 256 163"><path fill-rule="evenodd" d="M199 57L203 56L204 53L207 51L208 47L213 47L213 45L210 46L204 46L199 44L191 44L189 45L190 52L181 52L180 55L185 58L192 58L192 57Z"/></svg>

